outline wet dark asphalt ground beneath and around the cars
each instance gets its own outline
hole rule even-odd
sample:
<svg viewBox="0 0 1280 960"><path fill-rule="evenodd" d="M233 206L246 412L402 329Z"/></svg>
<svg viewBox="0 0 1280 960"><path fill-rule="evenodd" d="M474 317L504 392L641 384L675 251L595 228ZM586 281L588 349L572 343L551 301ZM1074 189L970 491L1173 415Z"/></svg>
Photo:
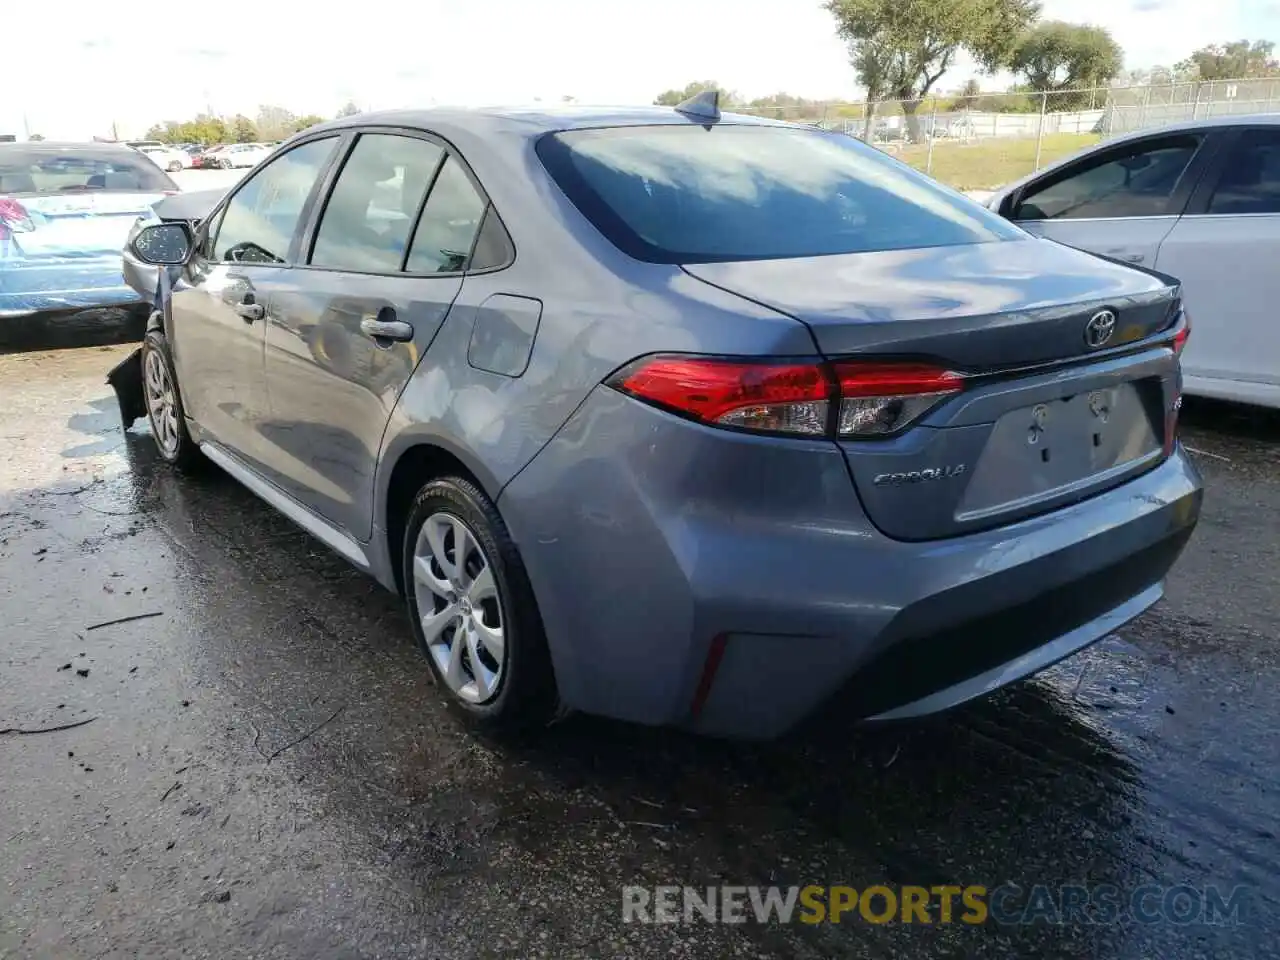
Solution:
<svg viewBox="0 0 1280 960"><path fill-rule="evenodd" d="M1280 420L1193 404L1169 598L996 699L769 745L444 708L398 602L0 357L0 956L1249 957L1280 943ZM151 616L155 614L155 616ZM95 627L125 617L128 622ZM1248 887L1243 923L639 925L623 884Z"/></svg>

